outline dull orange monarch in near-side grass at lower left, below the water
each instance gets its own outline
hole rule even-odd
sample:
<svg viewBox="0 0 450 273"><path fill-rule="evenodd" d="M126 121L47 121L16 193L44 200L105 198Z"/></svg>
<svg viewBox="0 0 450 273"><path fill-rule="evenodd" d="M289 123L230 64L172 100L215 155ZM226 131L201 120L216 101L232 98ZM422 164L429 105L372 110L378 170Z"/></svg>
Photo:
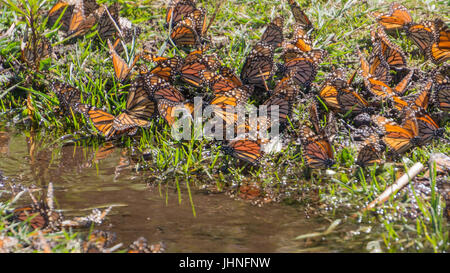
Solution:
<svg viewBox="0 0 450 273"><path fill-rule="evenodd" d="M16 208L13 210L13 221L30 221L34 229L56 229L61 221L62 215L50 210L45 202L40 201L29 206Z"/></svg>

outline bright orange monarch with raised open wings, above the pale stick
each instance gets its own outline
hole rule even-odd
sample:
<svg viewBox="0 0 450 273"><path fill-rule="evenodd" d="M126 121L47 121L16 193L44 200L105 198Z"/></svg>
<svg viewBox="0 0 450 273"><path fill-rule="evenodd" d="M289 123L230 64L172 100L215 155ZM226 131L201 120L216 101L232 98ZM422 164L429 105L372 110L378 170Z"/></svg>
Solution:
<svg viewBox="0 0 450 273"><path fill-rule="evenodd" d="M382 116L377 116L374 121L384 131L383 141L394 153L402 154L420 144L419 128L414 115L409 114L402 125Z"/></svg>

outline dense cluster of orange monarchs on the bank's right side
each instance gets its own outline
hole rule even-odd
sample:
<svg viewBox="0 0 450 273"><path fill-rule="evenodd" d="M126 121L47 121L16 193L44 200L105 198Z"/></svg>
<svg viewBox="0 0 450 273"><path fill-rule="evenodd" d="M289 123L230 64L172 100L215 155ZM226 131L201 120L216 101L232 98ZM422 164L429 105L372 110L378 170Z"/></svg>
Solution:
<svg viewBox="0 0 450 273"><path fill-rule="evenodd" d="M355 129L355 140L363 140L356 161L362 167L380 163L386 146L389 155L396 157L442 137L444 129L430 115L430 108L433 105L438 111L448 114L450 105L450 67L444 64L429 73L408 68L405 53L386 34L386 31L406 28L409 37L424 46L426 37L419 38L417 32L423 24L413 23L406 8L397 3L391 5L388 14L377 14L376 18L379 26L371 30L373 47L369 58L356 50L361 65L360 75L367 91L364 95L367 96L363 98L352 87L356 71L346 79L342 69L333 71L319 90L320 100L332 112L342 114L344 118L353 117L352 121L358 125L359 128L352 126L351 129ZM433 39L429 40L428 46L422 47L434 63L446 61L450 56L450 30L439 22L442 21L434 21L430 34ZM397 78L401 76L397 82L393 83L391 71ZM415 78L426 80L420 81L419 92L405 96ZM310 112L313 117L314 111ZM314 127L318 131L318 125ZM317 158L312 162L329 167L333 155L327 139L330 133L322 130L321 135L325 139L324 144L317 147Z"/></svg>

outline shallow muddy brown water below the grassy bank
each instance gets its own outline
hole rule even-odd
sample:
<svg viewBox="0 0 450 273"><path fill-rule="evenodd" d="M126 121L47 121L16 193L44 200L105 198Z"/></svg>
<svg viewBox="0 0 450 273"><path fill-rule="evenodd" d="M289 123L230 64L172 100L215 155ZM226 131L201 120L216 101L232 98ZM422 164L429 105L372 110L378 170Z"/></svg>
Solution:
<svg viewBox="0 0 450 273"><path fill-rule="evenodd" d="M330 244L305 245L293 240L329 225L323 219L308 219L301 207L257 207L191 187L194 216L186 190L182 189L179 202L176 189L149 187L148 175L130 169L120 149L102 160L95 158L90 147L46 147L25 133L0 129L0 171L7 181L42 188L53 182L57 208L66 218L113 205L107 220L97 228L115 232L116 242L124 246L144 236L151 243L163 241L167 252L336 250Z"/></svg>

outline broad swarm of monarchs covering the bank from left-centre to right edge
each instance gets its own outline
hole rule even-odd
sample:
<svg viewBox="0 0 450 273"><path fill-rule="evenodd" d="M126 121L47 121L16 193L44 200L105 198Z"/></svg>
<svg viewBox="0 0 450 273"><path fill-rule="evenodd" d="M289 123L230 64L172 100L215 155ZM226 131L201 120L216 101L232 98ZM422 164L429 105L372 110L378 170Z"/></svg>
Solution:
<svg viewBox="0 0 450 273"><path fill-rule="evenodd" d="M283 18L273 19L246 56L239 76L222 65L217 55L208 53L210 46L205 35L215 15L207 25L205 10L197 8L194 0L173 0L167 9L166 26L175 46L194 48L184 58L162 57L144 51L128 65L116 50L120 39L116 39L114 44L108 39L116 78L131 82L126 109L119 115L114 116L95 106L81 103L80 91L67 84L54 82L53 91L64 109L84 114L107 140L124 134L134 135L138 128L150 126L150 120L156 114L169 125L174 124L175 113L179 110L192 115L194 105L187 99L190 94L183 92L186 90L184 87L177 88L180 82L197 90L209 90L203 94L210 98L208 105L214 106L215 116L220 117L225 125L234 125L236 130L238 117L236 114L230 115L227 109L244 106L250 98L267 105L268 116L277 109L279 119L276 123L286 124L298 96L304 95L303 92L310 91L310 87L314 86L312 83L318 67L328 56L326 51L313 47L314 28L306 14L295 0L288 2L295 19L292 39L284 39ZM311 95L317 95L321 104L326 106L323 108L331 110L326 117L326 125L321 126L321 108L312 102L308 111L312 128L305 124L301 128L303 155L307 165L312 168L329 168L335 164L332 142L337 133L336 114L342 115L344 119L353 117L353 124L361 125L355 129L348 124L364 139L357 159L360 166L379 162L385 146L391 152L401 154L443 135L443 129L430 116L428 106L433 102L436 108L448 112L448 66L444 65L427 74L429 80L421 92L404 96L412 80L423 75L417 69L408 68L405 53L389 39L385 31L407 29L409 37L414 37L412 39L417 44L422 40L418 38L419 32L413 29L419 28L420 24L413 23L407 10L395 3L388 14L376 16L380 26L371 31L373 50L369 58L366 60L364 54L357 50L361 63L360 74L370 94L370 102L353 88L357 71L346 79L345 71L336 69L319 87L317 94L310 92ZM446 61L449 54L446 44L449 30L440 22L437 19L433 23L422 24L432 25L429 28L429 37L432 39L423 48L426 49L426 56L435 63ZM395 23L397 27L394 27ZM426 43L422 42L422 45ZM282 62L276 63L274 56L279 48ZM148 60L155 66L149 69L147 65L140 65L137 76L129 79L138 59ZM391 71L402 76L394 86ZM273 79L276 83L270 90L268 83ZM385 111L383 116L379 115L378 110L385 105L389 111ZM389 117L396 117L399 123ZM258 121L258 126L269 130L272 125L270 118ZM244 132L248 133L250 129L246 123ZM265 140L254 140L246 134L243 138L226 141L223 147L236 158L257 163L264 154L265 144Z"/></svg>

